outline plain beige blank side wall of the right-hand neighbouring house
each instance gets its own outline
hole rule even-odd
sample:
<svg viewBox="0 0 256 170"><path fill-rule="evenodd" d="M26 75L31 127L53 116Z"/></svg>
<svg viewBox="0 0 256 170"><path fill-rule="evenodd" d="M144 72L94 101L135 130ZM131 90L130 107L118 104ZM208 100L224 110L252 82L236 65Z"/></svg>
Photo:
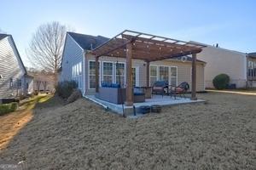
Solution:
<svg viewBox="0 0 256 170"><path fill-rule="evenodd" d="M206 88L213 88L213 78L221 73L229 75L230 83L236 83L237 88L246 87L246 54L207 46L200 54L197 54L197 58L207 62L205 68Z"/></svg>

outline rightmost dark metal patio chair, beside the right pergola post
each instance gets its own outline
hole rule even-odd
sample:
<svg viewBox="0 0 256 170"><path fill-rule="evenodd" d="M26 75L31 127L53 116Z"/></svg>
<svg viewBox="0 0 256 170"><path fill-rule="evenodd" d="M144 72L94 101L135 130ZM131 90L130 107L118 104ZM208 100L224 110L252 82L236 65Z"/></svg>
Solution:
<svg viewBox="0 0 256 170"><path fill-rule="evenodd" d="M182 82L181 84L179 84L177 87L170 85L169 86L169 94L174 95L174 99L176 99L177 94L180 95L180 97L182 98L186 98L185 93L187 93L189 89L189 83L188 82Z"/></svg>

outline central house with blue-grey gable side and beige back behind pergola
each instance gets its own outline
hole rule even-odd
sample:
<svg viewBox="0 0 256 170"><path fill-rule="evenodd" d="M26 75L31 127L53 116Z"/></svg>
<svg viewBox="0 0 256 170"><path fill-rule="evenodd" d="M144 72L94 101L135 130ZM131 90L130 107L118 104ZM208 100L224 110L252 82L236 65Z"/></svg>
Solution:
<svg viewBox="0 0 256 170"><path fill-rule="evenodd" d="M78 82L83 94L94 94L96 86L95 56L87 52L106 41L108 41L107 37L67 32L59 82L74 80ZM119 82L120 80L121 85L125 86L125 59L103 56L99 61L100 82ZM204 61L198 59L197 91L205 90L205 65ZM133 59L132 68L133 85L137 87L146 86L146 63L143 60ZM187 56L185 58L179 57L151 62L151 85L157 80L165 80L176 86L181 82L189 82L191 86L191 58Z"/></svg>

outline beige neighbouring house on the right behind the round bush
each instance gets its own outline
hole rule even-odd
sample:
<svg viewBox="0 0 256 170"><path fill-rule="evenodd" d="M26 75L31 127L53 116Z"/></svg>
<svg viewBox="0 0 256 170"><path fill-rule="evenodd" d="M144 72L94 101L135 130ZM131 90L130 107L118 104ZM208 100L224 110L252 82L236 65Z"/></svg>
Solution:
<svg viewBox="0 0 256 170"><path fill-rule="evenodd" d="M197 58L207 62L205 67L206 88L214 88L213 78L222 73L230 77L230 83L236 84L236 88L256 87L255 54L245 54L218 46L203 45L207 47L202 49Z"/></svg>

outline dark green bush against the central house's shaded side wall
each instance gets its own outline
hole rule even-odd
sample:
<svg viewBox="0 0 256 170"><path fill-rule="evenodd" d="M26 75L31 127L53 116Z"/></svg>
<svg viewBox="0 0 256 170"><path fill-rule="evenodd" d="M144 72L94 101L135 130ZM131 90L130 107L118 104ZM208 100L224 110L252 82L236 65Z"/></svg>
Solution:
<svg viewBox="0 0 256 170"><path fill-rule="evenodd" d="M67 99L76 88L78 88L78 84L75 81L59 82L56 87L56 94L61 96L63 99Z"/></svg>

